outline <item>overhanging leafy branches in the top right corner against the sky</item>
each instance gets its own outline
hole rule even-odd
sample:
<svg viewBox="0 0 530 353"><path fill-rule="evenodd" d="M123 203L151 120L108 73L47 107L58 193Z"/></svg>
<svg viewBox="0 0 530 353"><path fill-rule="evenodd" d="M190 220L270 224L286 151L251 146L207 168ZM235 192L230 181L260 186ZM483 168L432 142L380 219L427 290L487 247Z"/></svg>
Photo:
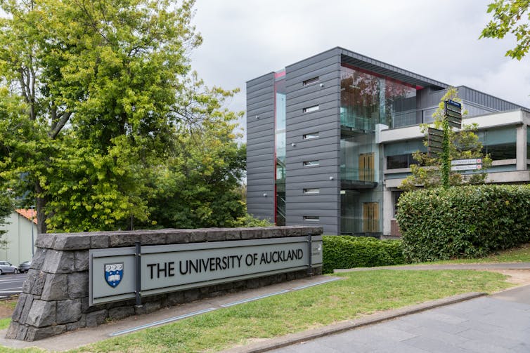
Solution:
<svg viewBox="0 0 530 353"><path fill-rule="evenodd" d="M516 46L506 52L506 56L521 60L530 47L528 21L529 0L495 0L488 5L488 13L493 15L480 34L481 38L503 39L508 33L515 36Z"/></svg>

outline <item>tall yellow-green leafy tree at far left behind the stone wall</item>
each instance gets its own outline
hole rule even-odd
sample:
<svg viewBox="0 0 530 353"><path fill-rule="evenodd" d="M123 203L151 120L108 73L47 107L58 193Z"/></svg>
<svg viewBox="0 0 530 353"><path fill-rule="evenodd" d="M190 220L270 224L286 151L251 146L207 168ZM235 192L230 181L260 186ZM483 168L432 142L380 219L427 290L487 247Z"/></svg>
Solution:
<svg viewBox="0 0 530 353"><path fill-rule="evenodd" d="M31 191L39 232L148 220L150 166L194 119L179 101L192 6L0 0L0 178Z"/></svg>

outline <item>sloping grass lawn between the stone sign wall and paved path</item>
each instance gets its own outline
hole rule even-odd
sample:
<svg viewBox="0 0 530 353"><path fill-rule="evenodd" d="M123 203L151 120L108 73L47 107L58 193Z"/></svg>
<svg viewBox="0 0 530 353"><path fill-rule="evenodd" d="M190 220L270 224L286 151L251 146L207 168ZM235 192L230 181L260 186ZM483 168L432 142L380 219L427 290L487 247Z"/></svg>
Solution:
<svg viewBox="0 0 530 353"><path fill-rule="evenodd" d="M72 352L216 352L255 339L304 331L449 295L491 293L512 286L502 274L476 271L377 270L338 276L344 279L217 309Z"/></svg>

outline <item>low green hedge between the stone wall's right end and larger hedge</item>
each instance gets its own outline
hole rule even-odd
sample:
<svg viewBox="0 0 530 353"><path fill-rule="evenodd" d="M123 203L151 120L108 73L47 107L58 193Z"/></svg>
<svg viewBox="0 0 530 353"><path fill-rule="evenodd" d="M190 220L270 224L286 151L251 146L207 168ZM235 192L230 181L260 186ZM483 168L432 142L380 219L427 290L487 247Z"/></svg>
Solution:
<svg viewBox="0 0 530 353"><path fill-rule="evenodd" d="M399 265L405 262L401 240L324 236L323 273L333 269Z"/></svg>

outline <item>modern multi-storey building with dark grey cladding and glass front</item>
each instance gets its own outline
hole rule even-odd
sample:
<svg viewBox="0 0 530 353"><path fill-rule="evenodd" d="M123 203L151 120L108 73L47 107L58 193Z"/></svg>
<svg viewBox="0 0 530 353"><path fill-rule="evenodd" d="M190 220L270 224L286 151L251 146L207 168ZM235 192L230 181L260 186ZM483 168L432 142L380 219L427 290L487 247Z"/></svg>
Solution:
<svg viewBox="0 0 530 353"><path fill-rule="evenodd" d="M447 88L338 47L248 81L248 212L325 234L398 234L397 187ZM489 182L529 182L530 109L458 93L493 158Z"/></svg>

